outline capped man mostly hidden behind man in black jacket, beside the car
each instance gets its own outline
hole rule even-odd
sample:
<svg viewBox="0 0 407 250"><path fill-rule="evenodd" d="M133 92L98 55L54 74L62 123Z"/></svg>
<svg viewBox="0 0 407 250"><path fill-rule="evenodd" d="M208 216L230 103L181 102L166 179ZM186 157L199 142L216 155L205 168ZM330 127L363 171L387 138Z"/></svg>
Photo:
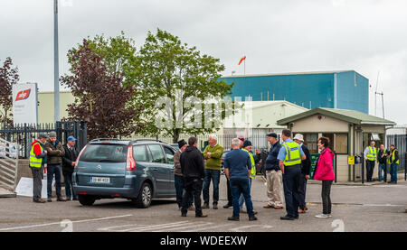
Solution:
<svg viewBox="0 0 407 250"><path fill-rule="evenodd" d="M186 144L185 140L181 140L178 142L178 148L179 150L175 152L174 154L174 165L175 165L175 170L174 170L174 183L175 183L175 193L176 193L176 203L178 204L178 209L181 210L183 206L183 192L185 190L184 187L184 176L183 176L183 171L181 170L181 162L179 162L179 159L181 157L181 153L185 151L185 148L188 145ZM194 206L192 205L194 202L194 197L191 196L190 200L190 206L189 209L192 210L194 209Z"/></svg>

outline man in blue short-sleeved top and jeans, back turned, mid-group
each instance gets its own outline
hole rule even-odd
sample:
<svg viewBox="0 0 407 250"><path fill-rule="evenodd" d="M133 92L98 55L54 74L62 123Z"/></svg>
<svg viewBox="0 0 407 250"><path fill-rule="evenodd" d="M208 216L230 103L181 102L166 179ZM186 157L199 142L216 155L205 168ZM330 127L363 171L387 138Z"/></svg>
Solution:
<svg viewBox="0 0 407 250"><path fill-rule="evenodd" d="M249 186L249 177L251 175L251 158L249 153L242 151L241 142L238 138L232 140L232 151L226 154L224 158L224 173L231 182L233 214L228 220L239 220L240 208L239 197L241 193L246 203L249 220L257 220L253 212L251 203L251 190Z"/></svg>

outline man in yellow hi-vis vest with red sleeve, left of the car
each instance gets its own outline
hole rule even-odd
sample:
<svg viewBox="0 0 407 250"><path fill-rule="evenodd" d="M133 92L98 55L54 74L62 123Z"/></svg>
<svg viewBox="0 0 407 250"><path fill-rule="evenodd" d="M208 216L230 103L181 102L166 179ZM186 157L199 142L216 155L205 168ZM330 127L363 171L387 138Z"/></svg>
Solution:
<svg viewBox="0 0 407 250"><path fill-rule="evenodd" d="M41 191L43 190L43 165L47 162L47 151L44 150L47 137L46 134L39 134L38 140L34 140L31 144L30 169L33 173L33 202L37 203L46 202L41 199Z"/></svg>

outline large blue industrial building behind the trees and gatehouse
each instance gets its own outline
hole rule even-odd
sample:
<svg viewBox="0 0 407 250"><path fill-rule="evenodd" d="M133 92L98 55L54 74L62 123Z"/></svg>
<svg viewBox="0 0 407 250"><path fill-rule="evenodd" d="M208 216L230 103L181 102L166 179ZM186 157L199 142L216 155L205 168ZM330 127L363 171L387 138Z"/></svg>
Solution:
<svg viewBox="0 0 407 250"><path fill-rule="evenodd" d="M369 79L355 70L222 77L231 97L287 100L309 109L329 107L369 113Z"/></svg>

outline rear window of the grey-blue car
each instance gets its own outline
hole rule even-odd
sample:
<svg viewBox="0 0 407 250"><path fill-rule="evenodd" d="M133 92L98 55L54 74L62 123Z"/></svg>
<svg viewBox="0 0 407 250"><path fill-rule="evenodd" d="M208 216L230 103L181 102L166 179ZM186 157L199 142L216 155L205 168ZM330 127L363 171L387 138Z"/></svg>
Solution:
<svg viewBox="0 0 407 250"><path fill-rule="evenodd" d="M88 144L80 155L80 162L126 162L128 145Z"/></svg>

